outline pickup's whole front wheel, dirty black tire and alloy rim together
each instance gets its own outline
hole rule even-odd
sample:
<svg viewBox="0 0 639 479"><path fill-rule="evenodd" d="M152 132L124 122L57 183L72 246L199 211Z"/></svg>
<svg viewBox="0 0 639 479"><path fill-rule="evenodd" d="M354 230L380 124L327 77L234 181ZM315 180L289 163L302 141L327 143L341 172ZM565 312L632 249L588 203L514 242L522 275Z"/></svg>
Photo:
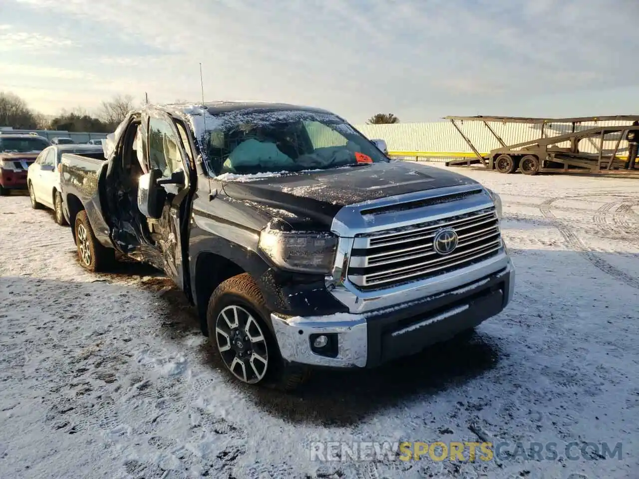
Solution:
<svg viewBox="0 0 639 479"><path fill-rule="evenodd" d="M231 322L229 312L235 315ZM268 317L270 312L253 278L247 273L234 276L215 288L208 301L208 340L216 358L235 379L287 392L295 390L307 379L308 369L282 360L266 323ZM242 344L238 346L238 342Z"/></svg>

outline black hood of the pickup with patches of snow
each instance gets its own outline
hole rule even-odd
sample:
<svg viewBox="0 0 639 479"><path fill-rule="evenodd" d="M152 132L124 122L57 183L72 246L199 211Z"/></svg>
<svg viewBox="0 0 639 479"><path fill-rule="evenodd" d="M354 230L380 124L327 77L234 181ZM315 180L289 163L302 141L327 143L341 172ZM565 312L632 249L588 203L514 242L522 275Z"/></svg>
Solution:
<svg viewBox="0 0 639 479"><path fill-rule="evenodd" d="M477 183L460 174L419 163L394 160L321 171L250 175L224 182L232 199L263 204L330 227L344 206L394 195ZM290 219L287 218L290 223Z"/></svg>

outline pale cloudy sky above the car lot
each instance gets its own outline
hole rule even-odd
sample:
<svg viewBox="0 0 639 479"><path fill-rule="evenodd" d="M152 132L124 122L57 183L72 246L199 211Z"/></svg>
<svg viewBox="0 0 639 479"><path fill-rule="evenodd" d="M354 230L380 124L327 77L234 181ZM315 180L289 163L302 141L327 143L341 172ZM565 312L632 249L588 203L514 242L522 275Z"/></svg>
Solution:
<svg viewBox="0 0 639 479"><path fill-rule="evenodd" d="M352 123L639 114L636 0L0 0L0 91L44 114L132 95Z"/></svg>

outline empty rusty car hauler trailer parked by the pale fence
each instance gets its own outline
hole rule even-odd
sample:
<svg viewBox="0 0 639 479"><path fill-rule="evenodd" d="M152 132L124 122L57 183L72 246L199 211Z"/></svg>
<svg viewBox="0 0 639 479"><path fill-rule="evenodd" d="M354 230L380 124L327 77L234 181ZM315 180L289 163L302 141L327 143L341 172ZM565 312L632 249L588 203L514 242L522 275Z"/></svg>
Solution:
<svg viewBox="0 0 639 479"><path fill-rule="evenodd" d="M481 163L489 170L497 170L500 173L512 173L518 169L523 174L537 174L539 172L570 172L570 173L617 173L629 174L624 170L624 160L617 155L621 142L626 139L628 130L637 129L631 126L633 121L639 121L639 115L597 116L581 118L521 118L512 116L447 116L445 119L459 132L475 158L463 160L450 160L447 166L472 165ZM480 153L473 144L469 135L463 132L463 122L481 121L488 132L495 137L501 145L491 149L489 153ZM614 126L582 126L581 123L616 122L626 125ZM516 144L506 144L498 135L495 128L489 123L519 123L531 125L539 129L539 137ZM569 133L544 136L548 133L549 126L563 130L570 129ZM568 127L568 128L566 128ZM580 141L588 139L594 145L594 153L581 151ZM612 142L614 148L606 150L606 142ZM559 146L566 144L565 147Z"/></svg>

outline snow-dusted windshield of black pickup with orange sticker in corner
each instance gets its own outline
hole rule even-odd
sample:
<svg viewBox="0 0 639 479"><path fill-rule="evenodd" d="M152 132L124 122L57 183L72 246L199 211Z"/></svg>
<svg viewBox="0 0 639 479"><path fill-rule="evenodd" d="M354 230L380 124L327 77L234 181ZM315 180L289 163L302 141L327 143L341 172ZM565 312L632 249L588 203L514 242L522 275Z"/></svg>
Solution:
<svg viewBox="0 0 639 479"><path fill-rule="evenodd" d="M388 161L369 140L337 116L309 110L239 109L211 114L189 105L187 114L215 174L300 172Z"/></svg>

